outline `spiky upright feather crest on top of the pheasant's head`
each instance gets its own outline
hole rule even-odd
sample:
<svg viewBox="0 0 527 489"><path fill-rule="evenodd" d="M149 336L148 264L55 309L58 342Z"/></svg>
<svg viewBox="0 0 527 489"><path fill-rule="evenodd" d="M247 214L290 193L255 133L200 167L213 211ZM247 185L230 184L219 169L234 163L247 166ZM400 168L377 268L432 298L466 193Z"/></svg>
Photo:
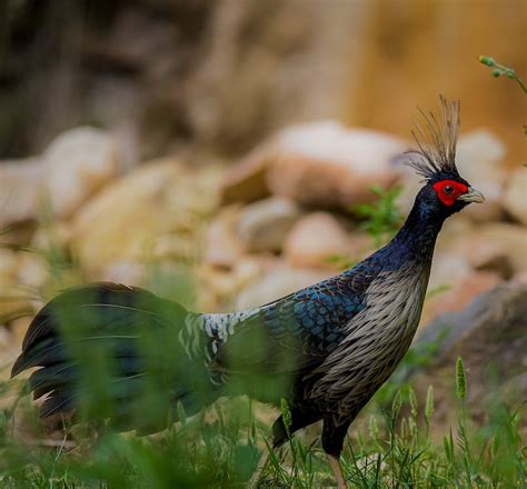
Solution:
<svg viewBox="0 0 527 489"><path fill-rule="evenodd" d="M425 120L425 129L416 123L411 131L418 149L408 151L406 164L414 168L425 180L431 180L440 173L459 176L456 168L456 144L459 131L459 101L448 102L439 96L440 120L432 112L425 113L418 108Z"/></svg>

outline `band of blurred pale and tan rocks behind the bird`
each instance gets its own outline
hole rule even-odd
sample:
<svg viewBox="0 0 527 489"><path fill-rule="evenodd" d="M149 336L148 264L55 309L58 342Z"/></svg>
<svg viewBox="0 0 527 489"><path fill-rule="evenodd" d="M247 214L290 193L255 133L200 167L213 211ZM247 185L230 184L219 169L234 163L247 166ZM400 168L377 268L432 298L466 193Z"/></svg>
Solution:
<svg viewBox="0 0 527 489"><path fill-rule="evenodd" d="M328 120L287 128L230 164L166 158L130 169L110 133L84 127L42 154L1 162L2 365L19 351L31 315L67 286L111 280L218 311L261 305L339 272L378 246L354 211L375 202L371 186L400 184L401 214L411 207L419 182L401 164L408 147ZM461 174L487 202L445 226L425 331L441 315L495 297L488 291L497 287L516 298L515 308L527 299L527 170L507 162L501 142L485 131L464 134L458 153ZM510 367L506 381L527 369L525 347L509 355L510 341L525 345L523 321L504 327L503 337L470 332L471 350L493 341L494 362ZM460 338L449 351L463 350ZM485 369L487 357L471 358L473 370Z"/></svg>

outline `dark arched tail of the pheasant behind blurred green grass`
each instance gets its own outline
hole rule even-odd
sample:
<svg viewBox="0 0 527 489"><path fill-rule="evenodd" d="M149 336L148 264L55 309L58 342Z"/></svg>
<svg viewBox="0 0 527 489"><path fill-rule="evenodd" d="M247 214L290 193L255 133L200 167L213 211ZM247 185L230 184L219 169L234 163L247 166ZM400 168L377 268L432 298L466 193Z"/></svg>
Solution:
<svg viewBox="0 0 527 489"><path fill-rule="evenodd" d="M11 376L40 367L29 385L34 399L47 395L41 417L77 410L120 430L159 431L177 420L178 402L193 413L213 397L202 358L185 349L190 316L137 288L68 290L34 317Z"/></svg>

